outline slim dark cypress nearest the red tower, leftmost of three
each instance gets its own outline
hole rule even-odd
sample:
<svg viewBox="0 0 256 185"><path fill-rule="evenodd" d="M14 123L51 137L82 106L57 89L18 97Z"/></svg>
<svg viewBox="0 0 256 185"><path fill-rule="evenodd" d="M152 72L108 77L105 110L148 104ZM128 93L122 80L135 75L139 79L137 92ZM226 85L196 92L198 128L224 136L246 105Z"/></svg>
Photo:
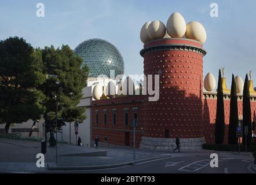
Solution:
<svg viewBox="0 0 256 185"><path fill-rule="evenodd" d="M218 92L217 92L217 112L215 123L215 143L223 144L225 135L225 115L224 115L224 95L222 89L221 70L219 71Z"/></svg>

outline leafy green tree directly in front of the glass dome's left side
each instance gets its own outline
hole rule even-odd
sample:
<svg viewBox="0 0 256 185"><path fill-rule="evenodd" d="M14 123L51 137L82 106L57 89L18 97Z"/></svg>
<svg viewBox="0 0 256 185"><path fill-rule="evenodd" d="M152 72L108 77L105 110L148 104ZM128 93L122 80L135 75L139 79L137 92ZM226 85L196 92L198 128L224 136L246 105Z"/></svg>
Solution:
<svg viewBox="0 0 256 185"><path fill-rule="evenodd" d="M54 49L53 46L42 50L43 72L46 74L46 82L42 84L41 90L46 95L43 103L46 112L43 115L50 132L61 129L65 122L78 121L81 123L85 116L85 108L77 107L82 98L82 90L86 87L88 68L82 65L82 58L74 55L68 46ZM56 125L56 102L58 103L57 125ZM52 145L55 145L53 142Z"/></svg>

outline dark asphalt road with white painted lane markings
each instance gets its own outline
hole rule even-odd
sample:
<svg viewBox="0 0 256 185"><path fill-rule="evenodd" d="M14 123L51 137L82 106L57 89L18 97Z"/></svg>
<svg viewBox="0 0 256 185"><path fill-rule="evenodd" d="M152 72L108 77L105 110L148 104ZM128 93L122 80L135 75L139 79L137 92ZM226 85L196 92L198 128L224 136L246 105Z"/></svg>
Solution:
<svg viewBox="0 0 256 185"><path fill-rule="evenodd" d="M218 168L211 168L210 156L192 156L170 157L120 168L90 171L58 171L57 173L254 173L250 168L250 165L254 162L251 156L219 154L218 157Z"/></svg>

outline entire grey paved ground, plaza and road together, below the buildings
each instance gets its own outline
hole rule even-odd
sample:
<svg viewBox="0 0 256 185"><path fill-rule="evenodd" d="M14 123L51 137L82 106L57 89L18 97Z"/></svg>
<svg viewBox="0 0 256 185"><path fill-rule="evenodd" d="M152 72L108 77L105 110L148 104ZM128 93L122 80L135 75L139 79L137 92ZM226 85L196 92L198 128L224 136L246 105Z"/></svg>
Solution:
<svg viewBox="0 0 256 185"><path fill-rule="evenodd" d="M232 154L231 152L202 150L198 152L173 153L170 151L136 150L133 161L133 149L86 149L73 145L59 145L57 166L103 166L132 162L130 165L108 169L55 170L37 168L36 154L40 153L41 143L24 140L0 138L0 172L39 172L39 173L255 173L254 158L251 153ZM70 152L71 151L71 152ZM94 151L106 151L107 156L90 156ZM55 164L56 148L47 149L46 164ZM211 168L210 154L217 153L218 168ZM63 156L64 155L64 156ZM70 156L71 155L71 156ZM75 156L74 156L75 155ZM78 156L77 156L78 155ZM56 164L55 164L56 165ZM75 168L74 168L75 169Z"/></svg>

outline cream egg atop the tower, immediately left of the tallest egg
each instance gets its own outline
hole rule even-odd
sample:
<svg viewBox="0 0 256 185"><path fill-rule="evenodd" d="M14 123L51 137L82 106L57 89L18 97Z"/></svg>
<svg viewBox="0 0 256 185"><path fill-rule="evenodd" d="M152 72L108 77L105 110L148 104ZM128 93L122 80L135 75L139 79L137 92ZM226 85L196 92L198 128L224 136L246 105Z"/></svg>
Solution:
<svg viewBox="0 0 256 185"><path fill-rule="evenodd" d="M151 40L162 39L166 34L166 27L161 21L153 21L148 26L148 36Z"/></svg>

